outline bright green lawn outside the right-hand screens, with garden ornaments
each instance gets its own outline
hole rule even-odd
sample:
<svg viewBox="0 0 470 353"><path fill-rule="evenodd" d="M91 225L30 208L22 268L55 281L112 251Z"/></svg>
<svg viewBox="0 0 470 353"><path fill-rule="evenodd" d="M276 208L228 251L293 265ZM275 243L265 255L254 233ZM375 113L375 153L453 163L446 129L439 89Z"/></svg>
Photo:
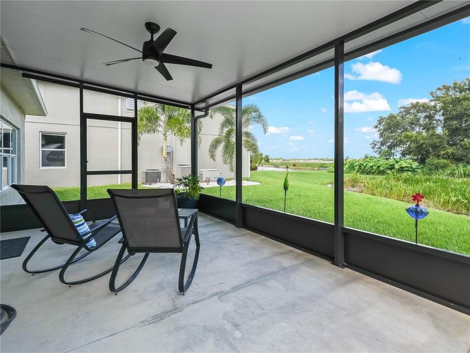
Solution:
<svg viewBox="0 0 470 353"><path fill-rule="evenodd" d="M244 186L243 202L282 211L284 176L282 172L251 172L250 180L261 184ZM332 173L296 171L289 173L289 181L286 212L333 223L334 192L326 186L333 183ZM203 193L218 197L219 188L206 188ZM235 200L235 187L223 187L222 197ZM405 211L409 204L345 191L345 225L414 242L414 220ZM429 215L419 223L418 242L470 254L470 217L427 208Z"/></svg>

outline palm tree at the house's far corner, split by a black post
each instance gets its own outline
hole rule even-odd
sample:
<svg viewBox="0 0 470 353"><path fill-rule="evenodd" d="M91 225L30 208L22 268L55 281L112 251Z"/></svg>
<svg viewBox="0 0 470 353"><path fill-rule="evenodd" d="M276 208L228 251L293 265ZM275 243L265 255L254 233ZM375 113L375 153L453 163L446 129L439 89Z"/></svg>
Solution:
<svg viewBox="0 0 470 353"><path fill-rule="evenodd" d="M209 145L209 157L215 161L217 152L222 149L222 162L228 166L230 172L235 170L235 109L229 105L217 107L211 111L210 118L214 114L222 115L219 127L219 136L214 138ZM260 125L264 133L268 132L268 120L261 113L256 104L247 104L242 108L242 145L250 154L259 153L258 140L249 131L250 126Z"/></svg>

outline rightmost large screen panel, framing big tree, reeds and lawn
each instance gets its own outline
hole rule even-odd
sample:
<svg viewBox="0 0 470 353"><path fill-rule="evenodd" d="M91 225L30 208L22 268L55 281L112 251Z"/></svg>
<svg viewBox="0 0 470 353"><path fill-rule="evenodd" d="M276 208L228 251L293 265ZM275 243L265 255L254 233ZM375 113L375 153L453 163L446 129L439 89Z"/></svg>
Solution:
<svg viewBox="0 0 470 353"><path fill-rule="evenodd" d="M345 63L346 227L470 254L469 67L464 21Z"/></svg>

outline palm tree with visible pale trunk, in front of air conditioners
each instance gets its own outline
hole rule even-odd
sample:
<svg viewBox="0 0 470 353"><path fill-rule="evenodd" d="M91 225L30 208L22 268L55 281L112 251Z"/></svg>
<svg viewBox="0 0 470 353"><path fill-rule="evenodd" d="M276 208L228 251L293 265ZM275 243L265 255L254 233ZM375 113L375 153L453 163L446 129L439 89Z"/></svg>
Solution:
<svg viewBox="0 0 470 353"><path fill-rule="evenodd" d="M191 137L191 113L188 109L175 107L173 105L144 103L137 114L137 141L143 134L163 135L162 151L162 182L170 180L173 182L173 175L168 168L167 161L167 141L173 135L178 142L183 143ZM198 121L198 128L202 128L202 122Z"/></svg>

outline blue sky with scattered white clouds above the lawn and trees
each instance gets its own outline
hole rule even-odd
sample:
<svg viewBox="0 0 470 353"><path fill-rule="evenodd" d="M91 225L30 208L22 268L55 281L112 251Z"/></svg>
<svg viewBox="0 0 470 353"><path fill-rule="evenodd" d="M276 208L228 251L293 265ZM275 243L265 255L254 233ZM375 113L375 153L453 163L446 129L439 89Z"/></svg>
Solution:
<svg viewBox="0 0 470 353"><path fill-rule="evenodd" d="M374 154L377 118L470 77L470 17L345 63L345 156ZM334 68L256 95L269 123L251 132L271 157L333 158Z"/></svg>

